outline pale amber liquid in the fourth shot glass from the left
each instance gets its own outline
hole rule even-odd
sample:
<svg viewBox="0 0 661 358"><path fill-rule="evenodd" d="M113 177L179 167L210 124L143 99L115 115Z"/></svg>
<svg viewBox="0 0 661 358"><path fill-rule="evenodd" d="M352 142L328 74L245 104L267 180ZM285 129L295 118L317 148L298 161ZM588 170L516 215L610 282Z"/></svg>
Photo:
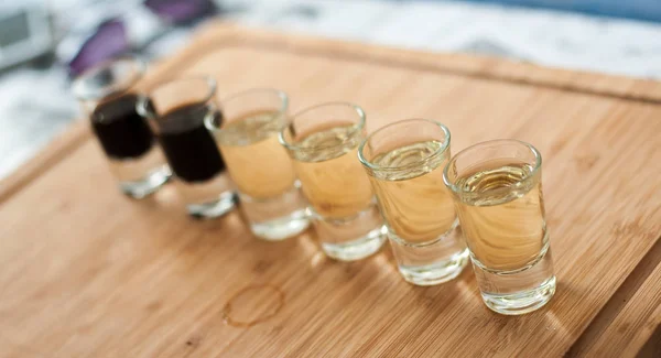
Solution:
<svg viewBox="0 0 661 358"><path fill-rule="evenodd" d="M372 189L358 161L362 139L351 126L312 133L299 142L294 167L314 210L325 218L345 218L366 209ZM317 148L326 148L319 149Z"/></svg>

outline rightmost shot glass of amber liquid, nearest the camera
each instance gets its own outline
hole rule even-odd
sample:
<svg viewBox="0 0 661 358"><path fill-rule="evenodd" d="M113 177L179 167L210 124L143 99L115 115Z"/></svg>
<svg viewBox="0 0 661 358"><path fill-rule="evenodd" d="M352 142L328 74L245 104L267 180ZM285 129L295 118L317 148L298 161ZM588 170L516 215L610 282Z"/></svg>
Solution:
<svg viewBox="0 0 661 358"><path fill-rule="evenodd" d="M516 140L495 140L455 155L443 178L484 302L506 315L532 312L555 293L542 197L542 156Z"/></svg>

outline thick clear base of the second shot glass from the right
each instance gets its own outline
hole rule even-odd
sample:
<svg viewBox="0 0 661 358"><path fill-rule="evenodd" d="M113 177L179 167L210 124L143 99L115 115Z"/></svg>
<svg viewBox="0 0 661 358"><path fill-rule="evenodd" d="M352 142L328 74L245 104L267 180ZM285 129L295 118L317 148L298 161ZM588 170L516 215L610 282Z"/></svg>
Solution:
<svg viewBox="0 0 661 358"><path fill-rule="evenodd" d="M408 282L419 286L431 286L454 280L468 263L468 249L459 251L448 259L432 264L407 267L399 265L399 271Z"/></svg>

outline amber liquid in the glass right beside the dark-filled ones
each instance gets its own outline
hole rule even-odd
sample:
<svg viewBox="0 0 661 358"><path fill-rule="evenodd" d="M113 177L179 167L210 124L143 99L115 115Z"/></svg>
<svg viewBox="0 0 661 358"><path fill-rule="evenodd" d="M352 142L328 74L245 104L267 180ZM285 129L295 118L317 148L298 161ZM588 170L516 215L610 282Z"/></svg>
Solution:
<svg viewBox="0 0 661 358"><path fill-rule="evenodd" d="M242 194L253 198L281 195L294 185L295 175L286 150L278 142L283 118L260 110L232 119L223 127L218 142L229 175Z"/></svg>

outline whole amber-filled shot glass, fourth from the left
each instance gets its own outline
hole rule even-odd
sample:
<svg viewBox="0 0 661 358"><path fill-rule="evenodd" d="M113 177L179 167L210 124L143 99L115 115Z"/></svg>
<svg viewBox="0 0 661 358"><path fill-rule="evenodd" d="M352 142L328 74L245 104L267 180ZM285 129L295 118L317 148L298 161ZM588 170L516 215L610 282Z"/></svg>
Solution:
<svg viewBox="0 0 661 358"><path fill-rule="evenodd" d="M280 133L310 202L322 249L337 260L362 259L386 241L383 218L358 161L365 137L365 112L344 102L304 109Z"/></svg>

